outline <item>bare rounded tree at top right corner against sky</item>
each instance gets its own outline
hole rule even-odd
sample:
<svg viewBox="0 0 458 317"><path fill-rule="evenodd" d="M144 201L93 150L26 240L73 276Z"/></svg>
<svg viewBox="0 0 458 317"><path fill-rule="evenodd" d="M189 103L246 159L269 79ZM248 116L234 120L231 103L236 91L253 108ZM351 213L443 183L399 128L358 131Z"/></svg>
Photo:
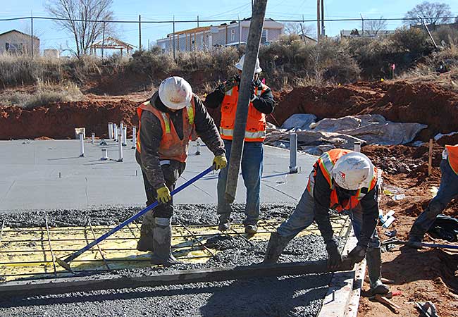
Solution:
<svg viewBox="0 0 458 317"><path fill-rule="evenodd" d="M448 4L423 1L404 15L404 18L414 19L404 20L404 24L416 25L417 23L421 23L421 18L424 18L427 24L449 23L451 19L448 17L450 16L452 16L452 12Z"/></svg>

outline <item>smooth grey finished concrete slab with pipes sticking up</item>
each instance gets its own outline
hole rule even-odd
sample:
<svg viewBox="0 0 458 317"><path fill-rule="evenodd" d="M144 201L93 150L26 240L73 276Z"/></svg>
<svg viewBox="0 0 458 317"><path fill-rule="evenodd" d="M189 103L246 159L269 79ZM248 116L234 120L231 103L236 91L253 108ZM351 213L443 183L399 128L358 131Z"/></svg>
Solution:
<svg viewBox="0 0 458 317"><path fill-rule="evenodd" d="M202 144L202 143L201 143ZM211 165L213 154L200 147L196 155L192 142L185 173L178 185ZM106 146L85 142L80 156L79 140L14 140L0 142L0 212L49 209L90 209L99 206L143 206L142 173L135 161L132 142L123 147L123 162L118 162L118 144ZM101 161L107 149L109 161ZM261 201L297 201L316 157L298 154L301 173L289 174L290 152L265 147ZM175 197L175 204L216 204L218 173L206 175ZM235 202L245 203L245 187L240 176Z"/></svg>

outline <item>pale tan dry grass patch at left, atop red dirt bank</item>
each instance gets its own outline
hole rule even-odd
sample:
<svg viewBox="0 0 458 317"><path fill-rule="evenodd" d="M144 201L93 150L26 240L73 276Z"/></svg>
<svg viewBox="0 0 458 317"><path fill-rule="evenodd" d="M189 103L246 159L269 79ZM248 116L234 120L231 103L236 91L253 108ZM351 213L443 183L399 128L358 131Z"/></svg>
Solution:
<svg viewBox="0 0 458 317"><path fill-rule="evenodd" d="M72 82L52 84L39 80L29 91L4 91L0 94L1 106L20 106L32 109L59 101L78 101L84 98L77 85Z"/></svg>

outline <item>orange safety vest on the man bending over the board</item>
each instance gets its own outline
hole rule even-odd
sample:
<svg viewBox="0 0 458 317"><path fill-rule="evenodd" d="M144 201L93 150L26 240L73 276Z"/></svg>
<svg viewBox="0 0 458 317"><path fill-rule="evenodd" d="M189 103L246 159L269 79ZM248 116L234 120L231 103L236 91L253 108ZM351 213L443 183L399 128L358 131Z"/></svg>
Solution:
<svg viewBox="0 0 458 317"><path fill-rule="evenodd" d="M369 178L369 182L367 187L363 187L358 189L357 193L347 199L345 201L339 201L337 190L335 189L335 185L332 181L332 173L335 163L340 159L340 157L344 156L345 154L351 153L352 151L346 149L332 149L327 151L325 154L321 155L319 159L314 164L314 169L311 171L309 176L309 182L307 184L307 190L313 196L314 194L314 185L315 185L315 177L316 173L318 173L318 168L323 173L324 177L328 181L329 188L332 189L330 193L330 203L329 209L333 209L336 211L343 211L343 210L350 210L354 209L359 204L359 201L363 199L366 194L371 191L377 185L377 168L373 168L373 175Z"/></svg>

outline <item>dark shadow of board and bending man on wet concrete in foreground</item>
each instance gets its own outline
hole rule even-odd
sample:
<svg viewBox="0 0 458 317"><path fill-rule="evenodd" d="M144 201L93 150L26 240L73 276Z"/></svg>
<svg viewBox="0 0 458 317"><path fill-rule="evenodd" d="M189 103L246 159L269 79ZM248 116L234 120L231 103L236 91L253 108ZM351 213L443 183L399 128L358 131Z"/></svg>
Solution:
<svg viewBox="0 0 458 317"><path fill-rule="evenodd" d="M183 288L171 285L145 290L140 287L135 292L130 289L99 291L90 293L63 294L45 297L14 297L1 299L1 308L20 306L47 306L72 303L97 303L103 301L142 299L147 297L169 298L199 294L211 294L208 302L200 308L203 316L289 316L289 311L297 307L309 306L311 302L322 299L327 290L329 278L316 275L295 278L252 278L231 282L230 285L190 285ZM194 287L192 287L194 286ZM183 299L181 299L183 300ZM189 304L189 303L188 303ZM321 306L321 302L319 302ZM300 315L302 316L302 315Z"/></svg>

